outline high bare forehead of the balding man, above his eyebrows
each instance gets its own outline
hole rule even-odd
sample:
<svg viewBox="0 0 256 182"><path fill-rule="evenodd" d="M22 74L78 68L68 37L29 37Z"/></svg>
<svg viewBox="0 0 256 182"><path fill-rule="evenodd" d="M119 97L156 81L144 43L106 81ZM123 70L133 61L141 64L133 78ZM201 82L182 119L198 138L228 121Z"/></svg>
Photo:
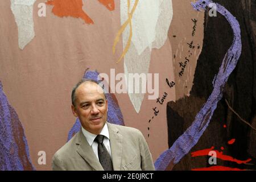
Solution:
<svg viewBox="0 0 256 182"><path fill-rule="evenodd" d="M98 84L94 82L84 82L76 89L77 100L105 99L104 92Z"/></svg>

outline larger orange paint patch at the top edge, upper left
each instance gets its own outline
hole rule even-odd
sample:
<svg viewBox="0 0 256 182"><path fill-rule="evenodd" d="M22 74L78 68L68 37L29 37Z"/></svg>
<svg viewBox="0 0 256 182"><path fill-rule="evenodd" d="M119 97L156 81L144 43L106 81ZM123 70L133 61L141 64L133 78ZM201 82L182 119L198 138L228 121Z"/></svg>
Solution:
<svg viewBox="0 0 256 182"><path fill-rule="evenodd" d="M56 16L81 18L85 23L93 24L93 20L82 10L82 0L48 0L46 4L53 6L52 13Z"/></svg>

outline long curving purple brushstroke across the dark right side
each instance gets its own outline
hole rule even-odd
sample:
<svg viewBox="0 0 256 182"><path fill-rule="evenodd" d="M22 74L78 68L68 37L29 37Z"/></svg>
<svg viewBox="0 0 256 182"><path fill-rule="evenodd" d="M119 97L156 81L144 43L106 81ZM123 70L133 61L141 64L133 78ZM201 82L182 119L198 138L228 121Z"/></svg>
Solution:
<svg viewBox="0 0 256 182"><path fill-rule="evenodd" d="M210 3L209 0L200 0L195 3L191 3L193 8L197 11L206 9ZM241 43L241 30L237 19L229 13L225 7L215 3L218 13L225 16L232 27L234 38L232 46L226 53L224 60L222 61L218 75L213 80L213 92L210 94L207 102L197 113L195 121L192 125L181 135L172 145L172 147L164 151L155 162L156 170L165 170L172 162L177 164L184 155L188 154L193 146L198 142L203 135L205 129L209 125L213 112L217 107L218 101L222 98L222 92L229 75L236 68L237 61L241 55L242 43Z"/></svg>

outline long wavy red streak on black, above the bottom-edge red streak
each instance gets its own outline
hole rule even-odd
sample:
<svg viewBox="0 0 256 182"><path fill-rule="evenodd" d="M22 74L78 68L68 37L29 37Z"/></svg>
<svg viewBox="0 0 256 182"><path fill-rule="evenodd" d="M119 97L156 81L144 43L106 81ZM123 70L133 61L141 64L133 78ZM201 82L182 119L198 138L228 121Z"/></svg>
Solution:
<svg viewBox="0 0 256 182"><path fill-rule="evenodd" d="M207 155L209 155L210 151L214 151L214 152L216 152L216 155L217 155L218 159L227 160L227 161L230 161L230 162L236 162L237 164L242 164L242 163L246 164L246 163L251 161L251 159L247 159L247 160L234 159L234 158L232 158L232 156L223 155L222 152L219 152L219 151L213 150L213 149L214 149L214 147L211 147L211 148L208 148L208 149L204 149L204 150L195 151L195 152L191 153L191 156L192 157L207 156Z"/></svg>

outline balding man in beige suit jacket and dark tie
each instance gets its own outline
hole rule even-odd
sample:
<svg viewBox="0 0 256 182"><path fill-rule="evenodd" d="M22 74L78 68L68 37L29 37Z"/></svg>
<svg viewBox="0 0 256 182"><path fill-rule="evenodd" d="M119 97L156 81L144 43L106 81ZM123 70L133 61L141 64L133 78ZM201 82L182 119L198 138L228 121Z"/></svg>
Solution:
<svg viewBox="0 0 256 182"><path fill-rule="evenodd" d="M141 131L107 121L108 100L93 80L72 90L72 112L81 130L53 156L53 170L154 170Z"/></svg>

